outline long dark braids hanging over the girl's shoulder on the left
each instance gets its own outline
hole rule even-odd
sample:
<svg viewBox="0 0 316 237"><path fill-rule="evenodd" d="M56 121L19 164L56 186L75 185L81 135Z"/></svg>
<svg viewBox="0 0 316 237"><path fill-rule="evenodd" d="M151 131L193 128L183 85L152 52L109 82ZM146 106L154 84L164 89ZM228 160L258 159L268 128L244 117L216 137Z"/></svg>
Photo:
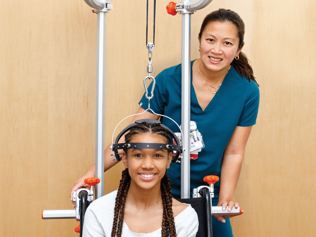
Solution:
<svg viewBox="0 0 316 237"><path fill-rule="evenodd" d="M119 183L119 189L115 199L114 220L111 237L121 237L124 220L125 200L130 184L131 176L128 173L128 169L125 169L122 172L122 179Z"/></svg>

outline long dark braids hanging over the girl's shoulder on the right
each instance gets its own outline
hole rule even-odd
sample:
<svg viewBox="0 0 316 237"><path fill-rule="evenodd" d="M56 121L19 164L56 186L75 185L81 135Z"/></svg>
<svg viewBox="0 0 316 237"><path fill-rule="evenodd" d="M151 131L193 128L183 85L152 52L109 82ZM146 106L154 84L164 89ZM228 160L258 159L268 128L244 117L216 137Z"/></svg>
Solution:
<svg viewBox="0 0 316 237"><path fill-rule="evenodd" d="M174 224L173 211L172 211L172 191L170 179L168 178L167 171L164 177L161 179L161 196L163 203L163 215L162 215L162 237L176 237L176 228Z"/></svg>

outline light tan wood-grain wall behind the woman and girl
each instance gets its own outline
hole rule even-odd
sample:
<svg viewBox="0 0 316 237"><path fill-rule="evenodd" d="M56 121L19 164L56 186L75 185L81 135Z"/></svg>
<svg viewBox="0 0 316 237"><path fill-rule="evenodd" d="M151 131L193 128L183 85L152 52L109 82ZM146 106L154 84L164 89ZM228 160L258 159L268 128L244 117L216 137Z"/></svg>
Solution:
<svg viewBox="0 0 316 237"><path fill-rule="evenodd" d="M150 1L151 2L151 1ZM181 16L157 1L154 76L181 62ZM134 113L147 76L145 1L112 1L106 15L106 129ZM83 1L0 0L2 236L78 236L75 220L41 220L70 209L73 182L94 163L96 15ZM191 58L204 16L232 9L246 24L243 51L260 84L235 199L235 236L314 236L316 3L214 0L191 18ZM152 3L149 7L152 15ZM152 17L149 19L149 41ZM118 131L129 123L126 120ZM121 164L105 173L117 188Z"/></svg>

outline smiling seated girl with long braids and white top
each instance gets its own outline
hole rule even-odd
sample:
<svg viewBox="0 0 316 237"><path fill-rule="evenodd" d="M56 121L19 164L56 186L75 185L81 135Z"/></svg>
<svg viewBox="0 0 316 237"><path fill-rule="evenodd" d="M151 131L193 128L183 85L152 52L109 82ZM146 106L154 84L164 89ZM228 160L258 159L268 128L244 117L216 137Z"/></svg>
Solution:
<svg viewBox="0 0 316 237"><path fill-rule="evenodd" d="M173 159L169 132L157 123L142 122L125 135L125 170L119 188L91 203L83 236L191 237L198 229L197 214L172 197L167 170ZM161 148L151 144L161 144ZM145 148L141 144L146 145ZM141 148L142 147L142 148Z"/></svg>

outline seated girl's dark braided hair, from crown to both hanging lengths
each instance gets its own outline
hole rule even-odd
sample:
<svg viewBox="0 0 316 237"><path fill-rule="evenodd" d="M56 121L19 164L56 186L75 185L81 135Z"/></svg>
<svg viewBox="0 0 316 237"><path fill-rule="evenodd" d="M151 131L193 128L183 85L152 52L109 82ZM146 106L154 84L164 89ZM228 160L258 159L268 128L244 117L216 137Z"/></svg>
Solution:
<svg viewBox="0 0 316 237"><path fill-rule="evenodd" d="M141 124L135 125L131 130L125 135L125 142L128 143L132 140L135 135L151 133L156 135L161 135L166 143L171 143L169 132L167 129L161 127L159 124L149 124L143 122ZM125 153L127 149L124 150ZM171 151L168 151L171 152ZM131 176L128 173L128 169L123 170L122 179L120 180L118 193L115 199L114 207L114 220L112 226L111 237L121 237L122 227L124 220L124 209L125 201L128 189L131 184ZM161 197L163 204L163 214L161 223L161 237L176 237L176 228L174 224L173 211L172 211L172 191L170 179L168 178L167 171L160 182L161 187Z"/></svg>

